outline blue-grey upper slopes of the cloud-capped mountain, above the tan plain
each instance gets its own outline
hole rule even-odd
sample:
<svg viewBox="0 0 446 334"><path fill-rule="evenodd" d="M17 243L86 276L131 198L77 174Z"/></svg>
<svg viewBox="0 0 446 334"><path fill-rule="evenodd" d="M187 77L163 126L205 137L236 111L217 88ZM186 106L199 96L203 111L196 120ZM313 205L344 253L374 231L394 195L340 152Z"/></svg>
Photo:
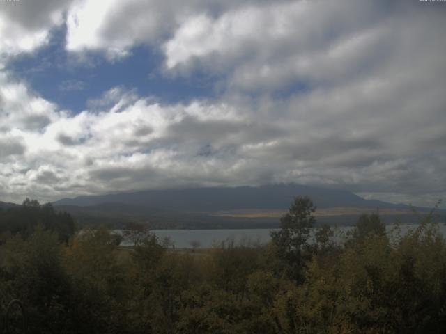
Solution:
<svg viewBox="0 0 446 334"><path fill-rule="evenodd" d="M53 204L80 207L119 203L181 212L214 212L234 209L287 209L294 196L309 196L317 207L407 208L379 200L366 200L349 191L298 184L149 190L102 196L63 198Z"/></svg>

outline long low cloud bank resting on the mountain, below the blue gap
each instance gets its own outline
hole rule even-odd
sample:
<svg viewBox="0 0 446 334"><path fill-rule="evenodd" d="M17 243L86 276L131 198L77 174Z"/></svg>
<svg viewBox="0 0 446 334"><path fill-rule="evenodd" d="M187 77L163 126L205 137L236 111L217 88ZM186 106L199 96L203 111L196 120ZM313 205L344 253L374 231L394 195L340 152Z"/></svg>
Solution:
<svg viewBox="0 0 446 334"><path fill-rule="evenodd" d="M8 184L6 193L55 199L79 191L275 182L367 189L368 196L394 189L445 193L445 159L393 150L390 131L355 134L335 124L316 131L309 125L319 122L317 116L256 119L247 104L159 104L134 95L123 104L129 92L120 89L121 98L115 95L108 109L59 113L44 128L16 131L22 146L8 154L21 159L4 164L0 180ZM444 152L440 145L436 150Z"/></svg>

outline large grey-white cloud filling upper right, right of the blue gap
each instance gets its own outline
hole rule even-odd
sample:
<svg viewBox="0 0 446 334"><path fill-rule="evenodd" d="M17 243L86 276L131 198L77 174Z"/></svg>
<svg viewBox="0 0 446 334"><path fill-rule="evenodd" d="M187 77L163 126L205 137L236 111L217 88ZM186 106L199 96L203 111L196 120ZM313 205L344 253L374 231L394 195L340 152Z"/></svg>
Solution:
<svg viewBox="0 0 446 334"><path fill-rule="evenodd" d="M443 54L444 42L431 43L445 40L443 15L430 8L428 26L424 10L429 9L380 1L287 1L220 16L201 13L188 17L164 43L166 66L179 75L197 69L225 74L226 87L249 92L338 85L400 67L397 59L415 61L409 49L420 63Z"/></svg>

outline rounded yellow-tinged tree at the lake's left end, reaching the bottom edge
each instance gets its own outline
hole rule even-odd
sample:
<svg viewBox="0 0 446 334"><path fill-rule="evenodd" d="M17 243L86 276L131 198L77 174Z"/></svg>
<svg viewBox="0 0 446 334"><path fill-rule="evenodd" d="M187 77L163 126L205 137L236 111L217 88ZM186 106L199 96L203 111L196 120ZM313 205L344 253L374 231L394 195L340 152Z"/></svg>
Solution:
<svg viewBox="0 0 446 334"><path fill-rule="evenodd" d="M72 287L65 314L71 331L57 333L129 333L126 317L134 312L130 305L137 286L125 259L105 225L77 234L63 261Z"/></svg>

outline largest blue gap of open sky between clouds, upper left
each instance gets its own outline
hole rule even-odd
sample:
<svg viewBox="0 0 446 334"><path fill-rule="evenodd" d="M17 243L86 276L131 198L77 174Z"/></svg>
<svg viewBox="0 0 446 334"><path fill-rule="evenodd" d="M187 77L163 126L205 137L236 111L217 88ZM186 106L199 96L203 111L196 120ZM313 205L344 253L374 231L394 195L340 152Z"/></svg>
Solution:
<svg viewBox="0 0 446 334"><path fill-rule="evenodd" d="M61 109L79 113L90 99L116 86L164 103L215 97L215 77L200 72L188 77L167 75L162 72L162 54L150 47L133 47L129 56L116 61L89 51L86 61L79 61L77 55L65 51L65 35L66 28L55 29L46 47L8 63L8 70L17 79L26 80L40 96Z"/></svg>

